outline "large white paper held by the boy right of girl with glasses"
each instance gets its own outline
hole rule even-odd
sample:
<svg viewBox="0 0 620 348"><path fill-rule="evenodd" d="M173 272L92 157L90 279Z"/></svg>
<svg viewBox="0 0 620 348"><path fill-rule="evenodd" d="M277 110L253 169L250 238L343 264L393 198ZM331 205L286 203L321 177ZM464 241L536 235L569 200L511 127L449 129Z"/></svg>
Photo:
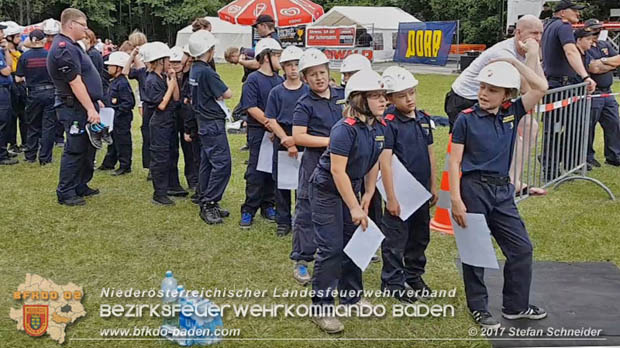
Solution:
<svg viewBox="0 0 620 348"><path fill-rule="evenodd" d="M392 156L392 175L394 176L394 194L396 195L398 204L400 204L399 217L404 221L407 220L411 214L415 213L415 211L433 195L409 173L396 155ZM381 173L379 173L379 177L377 178L377 190L381 193L383 200L387 202L387 195L381 179Z"/></svg>

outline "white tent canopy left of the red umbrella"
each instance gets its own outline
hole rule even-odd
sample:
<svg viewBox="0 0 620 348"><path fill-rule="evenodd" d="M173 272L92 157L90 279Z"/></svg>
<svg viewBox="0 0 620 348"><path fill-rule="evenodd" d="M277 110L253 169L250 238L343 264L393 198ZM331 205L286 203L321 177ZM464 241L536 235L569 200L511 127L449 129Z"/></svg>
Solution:
<svg viewBox="0 0 620 348"><path fill-rule="evenodd" d="M224 61L224 51L229 47L252 47L252 27L235 25L218 17L204 17L211 23L211 33L217 39L215 44L215 61ZM188 25L177 32L176 46L183 46L189 41L192 26Z"/></svg>

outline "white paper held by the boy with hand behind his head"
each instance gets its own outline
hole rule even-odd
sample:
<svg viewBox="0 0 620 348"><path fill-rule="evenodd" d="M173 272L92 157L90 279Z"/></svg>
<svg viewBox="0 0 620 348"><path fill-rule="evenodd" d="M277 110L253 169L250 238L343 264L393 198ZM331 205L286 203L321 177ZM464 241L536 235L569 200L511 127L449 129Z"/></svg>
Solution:
<svg viewBox="0 0 620 348"><path fill-rule="evenodd" d="M467 228L462 228L450 213L461 262L471 266L499 269L495 249L491 243L491 231L484 215L467 214L466 219Z"/></svg>

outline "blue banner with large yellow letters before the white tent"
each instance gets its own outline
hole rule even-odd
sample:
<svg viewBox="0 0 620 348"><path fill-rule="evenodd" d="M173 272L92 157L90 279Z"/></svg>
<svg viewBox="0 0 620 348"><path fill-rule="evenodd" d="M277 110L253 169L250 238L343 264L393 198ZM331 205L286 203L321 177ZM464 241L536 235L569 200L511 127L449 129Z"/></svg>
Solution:
<svg viewBox="0 0 620 348"><path fill-rule="evenodd" d="M456 22L399 23L394 61L446 65Z"/></svg>

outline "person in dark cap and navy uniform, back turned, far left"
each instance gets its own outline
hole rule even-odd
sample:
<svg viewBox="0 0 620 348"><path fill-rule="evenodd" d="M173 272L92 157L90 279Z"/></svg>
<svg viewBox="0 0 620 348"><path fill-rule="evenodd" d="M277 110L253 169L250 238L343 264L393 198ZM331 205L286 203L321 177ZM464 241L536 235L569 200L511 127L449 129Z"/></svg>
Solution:
<svg viewBox="0 0 620 348"><path fill-rule="evenodd" d="M47 73L47 54L43 48L45 34L36 29L30 32L30 49L19 58L15 80L25 80L28 97L26 99L26 122L28 138L24 156L26 161L34 163L39 156L39 163L52 162L56 113L54 112L54 85Z"/></svg>

